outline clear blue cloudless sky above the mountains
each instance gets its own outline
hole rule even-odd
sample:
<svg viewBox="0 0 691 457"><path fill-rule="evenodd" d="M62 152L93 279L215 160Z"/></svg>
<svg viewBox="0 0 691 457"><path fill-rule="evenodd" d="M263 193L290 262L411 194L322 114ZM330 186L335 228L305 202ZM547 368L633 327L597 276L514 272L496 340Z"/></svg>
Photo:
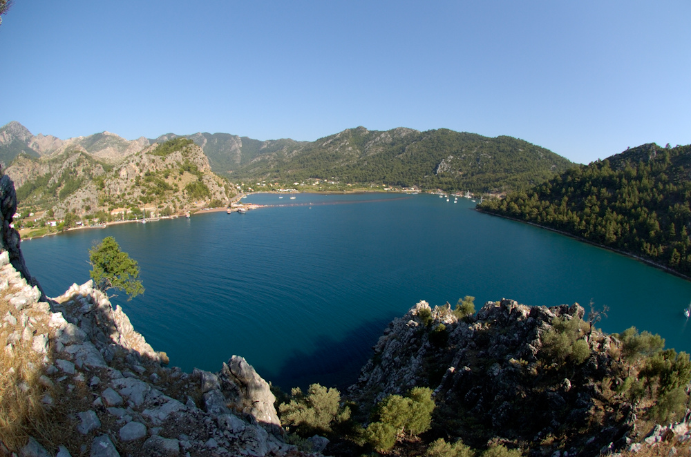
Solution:
<svg viewBox="0 0 691 457"><path fill-rule="evenodd" d="M587 163L691 143L691 2L15 0L0 125L314 140L451 128Z"/></svg>

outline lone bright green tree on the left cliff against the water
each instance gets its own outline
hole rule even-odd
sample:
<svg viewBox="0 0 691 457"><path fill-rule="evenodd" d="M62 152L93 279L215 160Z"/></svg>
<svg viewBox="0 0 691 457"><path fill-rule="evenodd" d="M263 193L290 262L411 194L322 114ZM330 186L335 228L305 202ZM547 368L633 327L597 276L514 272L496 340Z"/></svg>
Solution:
<svg viewBox="0 0 691 457"><path fill-rule="evenodd" d="M105 237L100 244L88 250L89 264L91 264L91 279L94 286L102 292L108 289L120 289L132 300L144 287L139 280L139 265L129 254L120 251L120 246L113 237Z"/></svg>

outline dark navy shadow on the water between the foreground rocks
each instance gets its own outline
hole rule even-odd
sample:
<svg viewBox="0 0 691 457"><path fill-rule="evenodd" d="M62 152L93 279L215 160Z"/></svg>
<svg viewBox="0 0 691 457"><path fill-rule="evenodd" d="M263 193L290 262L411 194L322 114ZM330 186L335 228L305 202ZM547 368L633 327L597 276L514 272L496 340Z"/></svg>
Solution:
<svg viewBox="0 0 691 457"><path fill-rule="evenodd" d="M319 349L308 353L296 350L287 358L272 384L283 391L292 387L305 391L310 384L319 383L325 387L337 387L341 392L352 385L360 376L360 369L372 357L372 346L388 327L391 320L372 320L354 329L342 338L335 340L321 336L317 342ZM258 372L260 368L258 368Z"/></svg>

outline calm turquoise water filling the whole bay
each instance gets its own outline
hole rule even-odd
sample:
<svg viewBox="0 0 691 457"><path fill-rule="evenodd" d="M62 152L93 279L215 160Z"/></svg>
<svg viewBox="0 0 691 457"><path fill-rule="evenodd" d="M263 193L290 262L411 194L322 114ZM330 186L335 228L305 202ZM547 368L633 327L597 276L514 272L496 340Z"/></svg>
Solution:
<svg viewBox="0 0 691 457"><path fill-rule="evenodd" d="M22 242L48 295L88 280L88 248L113 236L146 293L119 303L171 364L211 371L233 354L290 389L357 378L386 324L419 300L464 295L608 305L605 331L635 325L691 350L691 282L435 195L252 195L272 205L123 224Z"/></svg>

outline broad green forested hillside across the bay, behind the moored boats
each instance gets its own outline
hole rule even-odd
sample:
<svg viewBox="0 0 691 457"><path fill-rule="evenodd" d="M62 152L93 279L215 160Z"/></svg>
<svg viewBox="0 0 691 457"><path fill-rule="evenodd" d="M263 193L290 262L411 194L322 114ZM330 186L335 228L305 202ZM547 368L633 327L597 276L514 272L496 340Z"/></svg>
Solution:
<svg viewBox="0 0 691 457"><path fill-rule="evenodd" d="M319 178L343 186L387 184L446 191L527 188L571 166L567 159L521 139L448 129L381 132L358 127L308 144L285 142L261 150L243 139L242 153L251 153L252 159L239 162L231 179Z"/></svg>

